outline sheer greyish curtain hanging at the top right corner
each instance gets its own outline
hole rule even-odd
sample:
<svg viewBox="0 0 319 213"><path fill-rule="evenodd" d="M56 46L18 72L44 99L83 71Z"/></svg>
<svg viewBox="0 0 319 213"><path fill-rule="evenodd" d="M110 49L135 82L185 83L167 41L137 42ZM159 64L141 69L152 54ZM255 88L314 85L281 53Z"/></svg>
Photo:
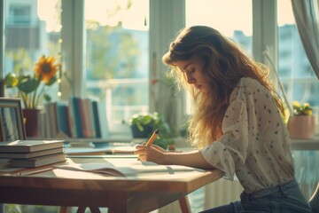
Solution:
<svg viewBox="0 0 319 213"><path fill-rule="evenodd" d="M292 0L292 11L307 58L319 79L318 0Z"/></svg>

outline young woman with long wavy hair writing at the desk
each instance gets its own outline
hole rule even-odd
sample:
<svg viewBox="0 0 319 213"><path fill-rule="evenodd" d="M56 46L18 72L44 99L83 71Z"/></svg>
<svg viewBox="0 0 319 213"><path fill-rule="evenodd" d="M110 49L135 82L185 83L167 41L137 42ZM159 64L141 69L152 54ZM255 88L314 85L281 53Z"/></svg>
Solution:
<svg viewBox="0 0 319 213"><path fill-rule="evenodd" d="M208 212L312 212L294 179L284 107L268 69L204 26L183 29L163 62L194 99L188 130L198 149L169 153L141 145L139 159L236 175L244 187L240 201Z"/></svg>

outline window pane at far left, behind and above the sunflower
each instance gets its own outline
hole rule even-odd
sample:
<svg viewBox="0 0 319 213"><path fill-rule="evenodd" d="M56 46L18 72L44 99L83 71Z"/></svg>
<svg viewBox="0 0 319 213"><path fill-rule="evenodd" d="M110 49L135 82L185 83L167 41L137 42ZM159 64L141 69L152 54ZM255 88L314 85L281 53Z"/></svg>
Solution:
<svg viewBox="0 0 319 213"><path fill-rule="evenodd" d="M43 55L60 59L60 14L60 0L4 1L4 76L34 75L35 63ZM5 92L10 97L17 94ZM57 100L58 83L47 92Z"/></svg>

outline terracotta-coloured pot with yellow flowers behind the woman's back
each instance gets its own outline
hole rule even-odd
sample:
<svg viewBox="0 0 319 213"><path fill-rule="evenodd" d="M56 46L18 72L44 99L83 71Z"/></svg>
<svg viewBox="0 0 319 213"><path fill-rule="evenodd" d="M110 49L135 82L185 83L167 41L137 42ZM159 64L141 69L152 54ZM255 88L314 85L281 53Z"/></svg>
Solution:
<svg viewBox="0 0 319 213"><path fill-rule="evenodd" d="M289 117L287 127L291 138L310 139L315 135L315 116L308 103L292 102L293 114Z"/></svg>

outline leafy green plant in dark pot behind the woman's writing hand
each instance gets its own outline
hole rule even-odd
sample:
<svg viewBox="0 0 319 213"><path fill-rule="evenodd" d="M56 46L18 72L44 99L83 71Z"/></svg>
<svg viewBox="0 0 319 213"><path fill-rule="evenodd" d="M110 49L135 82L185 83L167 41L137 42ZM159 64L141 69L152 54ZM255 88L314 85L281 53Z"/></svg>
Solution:
<svg viewBox="0 0 319 213"><path fill-rule="evenodd" d="M171 128L162 114L139 113L134 114L129 119L129 126L132 130L133 138L150 138L152 133L159 129L158 138L153 144L167 149L168 145L173 145Z"/></svg>

